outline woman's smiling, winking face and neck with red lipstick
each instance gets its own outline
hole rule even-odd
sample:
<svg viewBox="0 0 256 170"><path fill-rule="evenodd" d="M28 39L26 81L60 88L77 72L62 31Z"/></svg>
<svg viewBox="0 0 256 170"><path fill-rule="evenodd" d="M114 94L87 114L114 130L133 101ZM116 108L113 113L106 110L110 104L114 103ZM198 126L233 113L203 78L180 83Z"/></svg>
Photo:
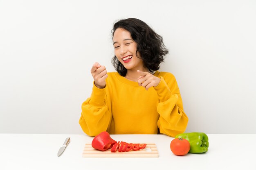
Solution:
<svg viewBox="0 0 256 170"><path fill-rule="evenodd" d="M143 61L138 58L139 52L137 52L137 43L132 39L130 32L117 28L113 35L113 46L115 48L115 55L117 59L128 70L144 70Z"/></svg>

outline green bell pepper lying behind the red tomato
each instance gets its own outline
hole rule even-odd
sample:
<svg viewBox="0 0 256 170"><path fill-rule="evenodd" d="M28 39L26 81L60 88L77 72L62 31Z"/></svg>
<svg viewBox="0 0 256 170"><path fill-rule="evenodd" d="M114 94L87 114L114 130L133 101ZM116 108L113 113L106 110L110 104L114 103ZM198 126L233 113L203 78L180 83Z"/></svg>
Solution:
<svg viewBox="0 0 256 170"><path fill-rule="evenodd" d="M183 138L189 141L189 153L205 153L208 151L209 142L208 136L202 132L181 133L175 136L176 138Z"/></svg>

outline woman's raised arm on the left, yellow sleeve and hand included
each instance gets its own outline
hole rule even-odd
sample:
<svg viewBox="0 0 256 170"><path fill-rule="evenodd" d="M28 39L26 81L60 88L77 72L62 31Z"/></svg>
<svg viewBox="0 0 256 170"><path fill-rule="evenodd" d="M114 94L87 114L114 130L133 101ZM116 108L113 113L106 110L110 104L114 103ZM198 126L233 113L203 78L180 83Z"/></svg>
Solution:
<svg viewBox="0 0 256 170"><path fill-rule="evenodd" d="M79 124L87 135L96 136L108 129L112 115L108 111L105 95L107 70L99 63L94 63L91 73L94 79L92 95L82 104Z"/></svg>

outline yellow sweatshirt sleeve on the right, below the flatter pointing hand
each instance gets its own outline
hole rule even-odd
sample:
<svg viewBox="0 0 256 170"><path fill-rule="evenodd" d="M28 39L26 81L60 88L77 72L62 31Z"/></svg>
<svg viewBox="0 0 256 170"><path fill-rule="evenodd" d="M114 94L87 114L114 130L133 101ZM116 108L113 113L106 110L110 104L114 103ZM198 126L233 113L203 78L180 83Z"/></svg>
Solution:
<svg viewBox="0 0 256 170"><path fill-rule="evenodd" d="M157 126L160 133L175 137L184 133L189 119L183 111L182 98L175 77L172 74L166 76L166 81L163 77L159 78L160 83L154 87L159 97L157 111L160 116Z"/></svg>

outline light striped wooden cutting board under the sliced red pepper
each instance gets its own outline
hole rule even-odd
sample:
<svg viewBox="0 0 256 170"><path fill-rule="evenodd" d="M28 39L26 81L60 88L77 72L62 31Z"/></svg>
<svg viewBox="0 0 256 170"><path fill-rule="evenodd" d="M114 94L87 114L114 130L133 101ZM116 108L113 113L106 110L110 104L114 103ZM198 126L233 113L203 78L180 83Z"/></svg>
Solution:
<svg viewBox="0 0 256 170"><path fill-rule="evenodd" d="M159 157L157 146L153 143L148 143L146 148L141 150L130 150L129 152L114 152L112 153L110 149L101 151L96 150L92 148L91 144L85 144L84 150L83 150L83 157L85 158L92 158L92 157L98 157L98 158L114 158L114 157L132 157L132 158L156 158Z"/></svg>

